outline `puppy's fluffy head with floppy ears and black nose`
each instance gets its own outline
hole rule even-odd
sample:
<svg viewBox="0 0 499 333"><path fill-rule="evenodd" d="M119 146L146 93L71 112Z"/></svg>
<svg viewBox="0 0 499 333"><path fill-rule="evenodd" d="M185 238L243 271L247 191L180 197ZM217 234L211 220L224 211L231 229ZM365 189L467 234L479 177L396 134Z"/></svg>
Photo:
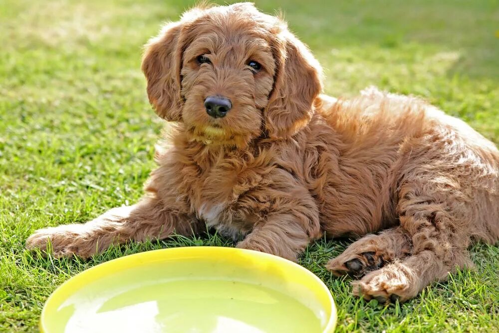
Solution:
<svg viewBox="0 0 499 333"><path fill-rule="evenodd" d="M187 11L149 41L142 70L157 114L208 144L289 137L321 90L306 46L251 3Z"/></svg>

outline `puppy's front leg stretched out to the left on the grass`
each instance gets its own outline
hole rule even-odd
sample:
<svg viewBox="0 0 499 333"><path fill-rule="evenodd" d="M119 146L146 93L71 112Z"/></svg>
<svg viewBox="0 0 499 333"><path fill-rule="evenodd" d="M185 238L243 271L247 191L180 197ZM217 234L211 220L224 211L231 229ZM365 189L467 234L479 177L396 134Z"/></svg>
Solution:
<svg viewBox="0 0 499 333"><path fill-rule="evenodd" d="M56 257L88 258L112 244L163 239L173 231L191 235L198 227L195 219L168 208L158 199L146 197L133 206L113 208L85 224L37 230L27 239L26 248L52 251Z"/></svg>

